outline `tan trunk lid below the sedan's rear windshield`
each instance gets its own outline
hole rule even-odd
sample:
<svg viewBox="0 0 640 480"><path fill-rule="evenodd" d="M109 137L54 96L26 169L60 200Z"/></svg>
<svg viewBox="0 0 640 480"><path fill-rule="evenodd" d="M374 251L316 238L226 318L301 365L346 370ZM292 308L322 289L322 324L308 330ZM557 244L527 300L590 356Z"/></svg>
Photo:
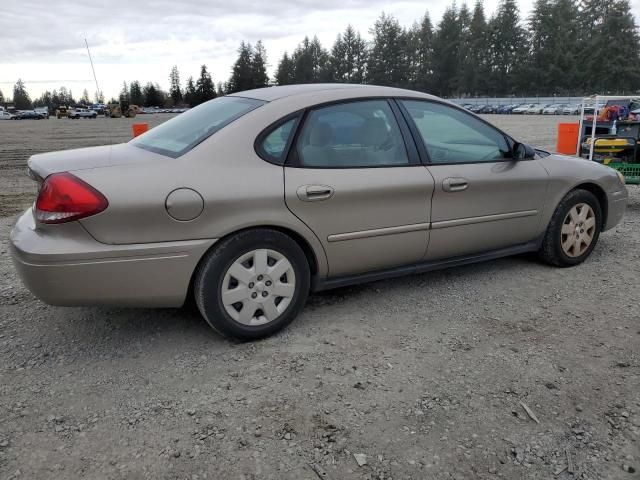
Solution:
<svg viewBox="0 0 640 480"><path fill-rule="evenodd" d="M29 171L35 174L36 177L44 179L52 173L152 162L165 158L157 153L142 150L128 143L121 143L118 145L40 153L33 155L29 159L28 166Z"/></svg>

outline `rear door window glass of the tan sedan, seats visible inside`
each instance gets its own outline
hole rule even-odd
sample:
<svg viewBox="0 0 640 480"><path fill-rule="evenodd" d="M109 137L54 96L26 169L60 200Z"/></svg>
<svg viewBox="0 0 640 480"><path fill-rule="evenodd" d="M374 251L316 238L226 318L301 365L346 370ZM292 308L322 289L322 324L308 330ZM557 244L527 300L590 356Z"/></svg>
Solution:
<svg viewBox="0 0 640 480"><path fill-rule="evenodd" d="M409 164L386 100L342 103L311 111L296 145L305 167L383 167Z"/></svg>

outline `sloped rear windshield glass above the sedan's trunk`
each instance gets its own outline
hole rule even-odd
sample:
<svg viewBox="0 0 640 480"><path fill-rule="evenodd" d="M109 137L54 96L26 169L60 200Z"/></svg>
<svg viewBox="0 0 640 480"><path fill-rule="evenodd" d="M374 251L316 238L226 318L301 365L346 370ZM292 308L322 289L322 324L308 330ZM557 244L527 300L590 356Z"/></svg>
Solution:
<svg viewBox="0 0 640 480"><path fill-rule="evenodd" d="M160 155L177 158L265 103L252 98L216 98L158 125L129 143Z"/></svg>

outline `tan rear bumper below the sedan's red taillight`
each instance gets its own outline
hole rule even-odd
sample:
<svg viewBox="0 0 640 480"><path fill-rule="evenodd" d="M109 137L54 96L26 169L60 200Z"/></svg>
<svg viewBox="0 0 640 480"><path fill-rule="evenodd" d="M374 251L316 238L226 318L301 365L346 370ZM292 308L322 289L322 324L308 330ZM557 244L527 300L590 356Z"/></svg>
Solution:
<svg viewBox="0 0 640 480"><path fill-rule="evenodd" d="M36 228L31 209L10 236L25 286L50 305L179 307L215 240L133 245L96 241L78 223Z"/></svg>

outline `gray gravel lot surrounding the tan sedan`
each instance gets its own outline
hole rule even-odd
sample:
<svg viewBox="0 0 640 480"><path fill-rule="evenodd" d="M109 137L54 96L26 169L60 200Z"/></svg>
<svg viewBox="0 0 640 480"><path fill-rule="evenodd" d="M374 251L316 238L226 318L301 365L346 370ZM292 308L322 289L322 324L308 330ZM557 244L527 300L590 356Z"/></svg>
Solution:
<svg viewBox="0 0 640 480"><path fill-rule="evenodd" d="M551 148L567 117L490 120ZM343 288L233 344L188 308L49 307L16 278L27 157L131 123L0 122L1 479L640 478L637 187L579 267L524 256Z"/></svg>

